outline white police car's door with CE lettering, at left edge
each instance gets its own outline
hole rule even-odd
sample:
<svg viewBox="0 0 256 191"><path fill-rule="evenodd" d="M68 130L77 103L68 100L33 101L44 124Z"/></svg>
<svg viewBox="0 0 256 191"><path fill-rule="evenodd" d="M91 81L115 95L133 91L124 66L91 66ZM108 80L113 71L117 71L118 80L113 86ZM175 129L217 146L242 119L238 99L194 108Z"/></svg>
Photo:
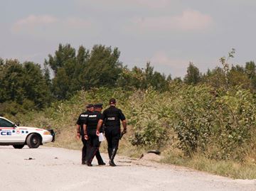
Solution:
<svg viewBox="0 0 256 191"><path fill-rule="evenodd" d="M14 127L14 124L0 118L0 142L14 143L16 139L16 127Z"/></svg>

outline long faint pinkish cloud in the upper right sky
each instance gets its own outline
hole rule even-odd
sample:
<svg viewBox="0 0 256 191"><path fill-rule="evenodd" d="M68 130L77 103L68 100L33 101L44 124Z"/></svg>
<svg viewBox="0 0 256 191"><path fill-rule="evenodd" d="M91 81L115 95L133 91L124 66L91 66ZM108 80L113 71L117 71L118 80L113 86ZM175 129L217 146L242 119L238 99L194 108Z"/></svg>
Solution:
<svg viewBox="0 0 256 191"><path fill-rule="evenodd" d="M211 26L213 18L199 11L186 10L178 16L157 16L132 19L132 28L142 31L200 31Z"/></svg>

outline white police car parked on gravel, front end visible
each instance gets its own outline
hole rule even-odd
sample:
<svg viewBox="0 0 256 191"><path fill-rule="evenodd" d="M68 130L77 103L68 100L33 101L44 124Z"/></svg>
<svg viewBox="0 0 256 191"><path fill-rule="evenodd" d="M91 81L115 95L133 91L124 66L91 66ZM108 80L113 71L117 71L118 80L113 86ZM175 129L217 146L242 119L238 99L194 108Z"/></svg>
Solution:
<svg viewBox="0 0 256 191"><path fill-rule="evenodd" d="M38 148L43 143L53 142L55 133L53 130L45 130L34 127L19 126L0 116L0 145L14 148Z"/></svg>

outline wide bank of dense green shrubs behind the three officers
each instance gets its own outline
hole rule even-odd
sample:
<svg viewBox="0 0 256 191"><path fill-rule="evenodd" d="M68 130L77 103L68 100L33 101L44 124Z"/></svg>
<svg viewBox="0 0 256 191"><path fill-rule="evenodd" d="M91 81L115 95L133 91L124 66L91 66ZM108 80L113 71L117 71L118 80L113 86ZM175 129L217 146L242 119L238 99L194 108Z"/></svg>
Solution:
<svg viewBox="0 0 256 191"><path fill-rule="evenodd" d="M116 97L117 107L127 116L128 139L134 146L179 149L186 156L201 153L215 160L256 159L256 108L250 91L237 87L213 92L207 85L176 83L169 88L169 92L105 87L80 91L40 113L18 114L15 120L54 128L58 136L71 131L65 141L73 143L75 121L85 105L102 102L106 108L109 97Z"/></svg>

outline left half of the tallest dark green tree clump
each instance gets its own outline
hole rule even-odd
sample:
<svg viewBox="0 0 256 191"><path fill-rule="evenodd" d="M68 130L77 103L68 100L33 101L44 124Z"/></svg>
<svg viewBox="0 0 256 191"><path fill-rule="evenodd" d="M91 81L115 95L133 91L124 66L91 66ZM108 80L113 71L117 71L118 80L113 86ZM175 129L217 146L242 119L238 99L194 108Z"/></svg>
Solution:
<svg viewBox="0 0 256 191"><path fill-rule="evenodd" d="M48 55L45 65L50 66L54 72L51 89L57 99L67 99L81 89L78 79L83 72L85 53L85 48L80 47L77 58L75 48L70 44L60 44L55 55Z"/></svg>

